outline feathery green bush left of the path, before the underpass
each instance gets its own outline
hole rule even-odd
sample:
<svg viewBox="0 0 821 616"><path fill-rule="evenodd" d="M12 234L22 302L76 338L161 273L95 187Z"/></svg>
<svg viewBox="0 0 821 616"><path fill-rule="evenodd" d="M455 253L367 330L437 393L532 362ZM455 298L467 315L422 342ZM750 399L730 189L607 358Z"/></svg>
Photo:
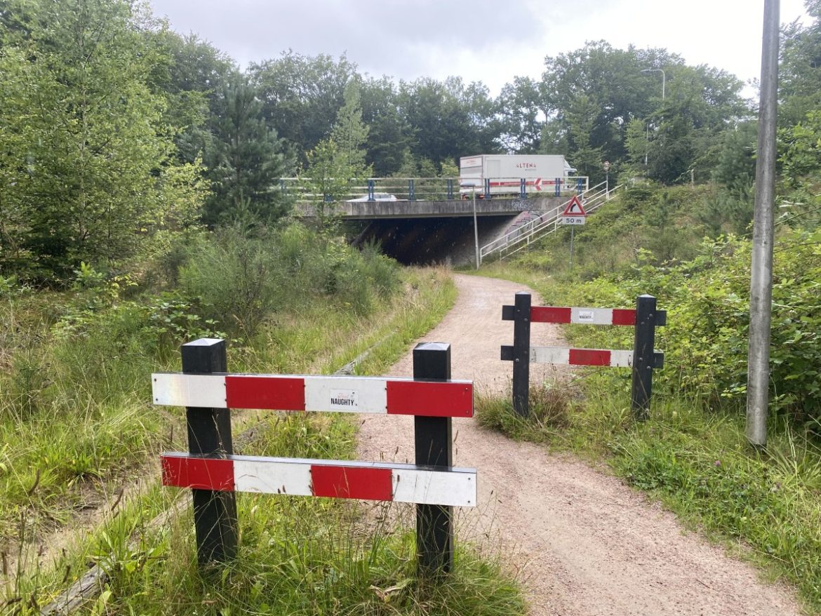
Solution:
<svg viewBox="0 0 821 616"><path fill-rule="evenodd" d="M318 296L369 314L399 279L397 264L374 246L360 253L299 224L257 237L222 228L200 239L180 270L186 296L200 302L204 316L245 338L266 319L303 310Z"/></svg>

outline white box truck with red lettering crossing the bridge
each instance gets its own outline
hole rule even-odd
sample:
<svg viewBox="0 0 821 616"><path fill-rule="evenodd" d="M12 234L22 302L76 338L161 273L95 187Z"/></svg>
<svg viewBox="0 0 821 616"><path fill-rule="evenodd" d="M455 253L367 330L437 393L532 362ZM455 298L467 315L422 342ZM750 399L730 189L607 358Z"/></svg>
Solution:
<svg viewBox="0 0 821 616"><path fill-rule="evenodd" d="M561 154L477 154L459 159L459 184L463 199L473 191L478 199L485 195L555 195L576 190L576 169ZM586 179L586 178L585 178ZM585 186L586 188L586 186Z"/></svg>

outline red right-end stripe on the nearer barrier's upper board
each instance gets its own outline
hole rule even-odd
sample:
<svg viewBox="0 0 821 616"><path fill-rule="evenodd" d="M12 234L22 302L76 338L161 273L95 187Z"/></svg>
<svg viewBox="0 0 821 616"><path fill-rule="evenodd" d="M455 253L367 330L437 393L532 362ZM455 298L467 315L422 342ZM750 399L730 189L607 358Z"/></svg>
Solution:
<svg viewBox="0 0 821 616"><path fill-rule="evenodd" d="M472 417L473 384L388 381L388 415Z"/></svg>

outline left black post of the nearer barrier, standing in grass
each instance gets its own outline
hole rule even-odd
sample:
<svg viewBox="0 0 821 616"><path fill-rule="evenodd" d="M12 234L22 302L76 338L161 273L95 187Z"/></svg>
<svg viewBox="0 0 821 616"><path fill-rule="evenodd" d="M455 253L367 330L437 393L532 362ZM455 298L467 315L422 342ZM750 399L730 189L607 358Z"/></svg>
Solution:
<svg viewBox="0 0 821 616"><path fill-rule="evenodd" d="M182 371L209 375L227 371L225 341L202 338L182 345ZM231 414L227 408L186 407L188 449L195 455L226 457L233 453ZM197 559L200 564L236 556L236 498L233 492L192 490Z"/></svg>

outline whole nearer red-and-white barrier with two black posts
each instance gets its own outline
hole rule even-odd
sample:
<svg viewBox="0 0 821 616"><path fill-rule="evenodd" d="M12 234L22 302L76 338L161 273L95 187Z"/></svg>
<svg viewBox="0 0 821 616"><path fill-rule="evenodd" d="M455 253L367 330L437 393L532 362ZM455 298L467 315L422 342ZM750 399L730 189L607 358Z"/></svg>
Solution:
<svg viewBox="0 0 821 616"><path fill-rule="evenodd" d="M421 342L414 379L227 374L225 341L182 345L182 374L152 375L155 404L186 407L189 453L163 453L163 485L193 490L197 559L236 557L235 492L416 503L419 567L453 564L453 507L475 507L476 471L454 468L453 417L473 416L473 384L453 381L451 347ZM415 464L233 455L231 409L342 411L422 416Z"/></svg>

